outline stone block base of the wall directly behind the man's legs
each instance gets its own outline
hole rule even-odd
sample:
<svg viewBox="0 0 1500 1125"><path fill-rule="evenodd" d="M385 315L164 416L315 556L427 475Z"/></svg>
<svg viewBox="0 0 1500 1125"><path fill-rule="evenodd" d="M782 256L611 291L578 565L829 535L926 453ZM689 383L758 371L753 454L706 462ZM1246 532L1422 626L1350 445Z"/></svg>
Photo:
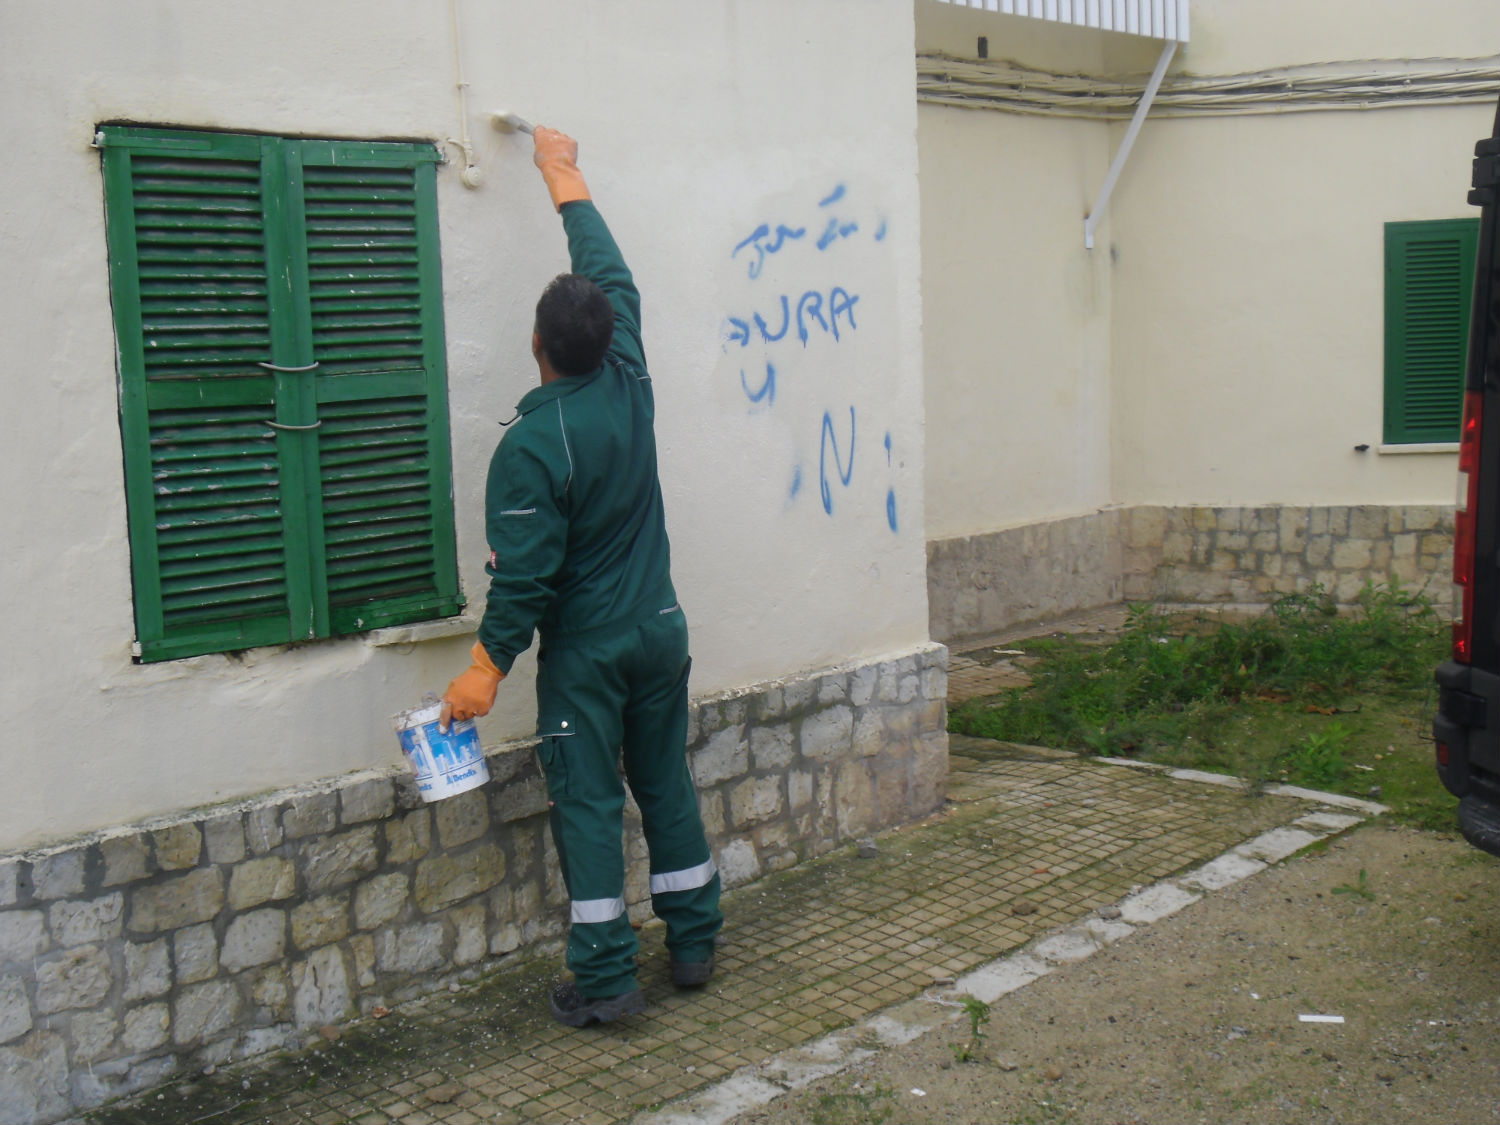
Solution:
<svg viewBox="0 0 1500 1125"><path fill-rule="evenodd" d="M938 808L946 650L699 699L688 754L726 885ZM366 774L0 856L0 1125L51 1122L183 1070L546 948L567 892L530 744L424 806ZM627 810L632 916L650 915Z"/></svg>

